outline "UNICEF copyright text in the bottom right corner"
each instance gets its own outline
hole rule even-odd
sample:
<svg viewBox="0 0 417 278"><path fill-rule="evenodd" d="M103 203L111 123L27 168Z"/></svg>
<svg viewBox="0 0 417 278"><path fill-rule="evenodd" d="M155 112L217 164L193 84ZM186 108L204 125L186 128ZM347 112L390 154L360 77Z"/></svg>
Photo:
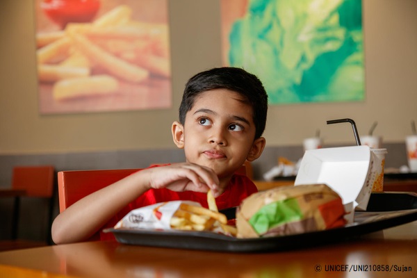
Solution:
<svg viewBox="0 0 417 278"><path fill-rule="evenodd" d="M315 265L316 272L411 272L407 265Z"/></svg>

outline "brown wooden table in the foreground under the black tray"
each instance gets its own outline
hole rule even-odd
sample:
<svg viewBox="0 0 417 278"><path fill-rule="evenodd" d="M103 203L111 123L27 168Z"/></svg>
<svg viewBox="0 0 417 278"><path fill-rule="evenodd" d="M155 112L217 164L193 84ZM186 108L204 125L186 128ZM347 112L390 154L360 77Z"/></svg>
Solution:
<svg viewBox="0 0 417 278"><path fill-rule="evenodd" d="M391 272L382 271L386 267ZM358 271L358 268L367 268L368 271ZM417 221L332 245L258 254L142 247L114 241L0 252L0 277L25 275L100 278L416 277Z"/></svg>

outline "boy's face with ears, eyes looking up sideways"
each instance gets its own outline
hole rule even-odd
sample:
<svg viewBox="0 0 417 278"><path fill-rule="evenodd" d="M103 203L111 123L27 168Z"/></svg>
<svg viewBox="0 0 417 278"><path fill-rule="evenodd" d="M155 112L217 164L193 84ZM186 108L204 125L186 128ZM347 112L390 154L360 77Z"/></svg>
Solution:
<svg viewBox="0 0 417 278"><path fill-rule="evenodd" d="M210 167L218 177L230 176L246 159L261 155L265 139L254 140L255 131L252 106L227 89L203 92L186 114L184 126L172 126L187 162Z"/></svg>

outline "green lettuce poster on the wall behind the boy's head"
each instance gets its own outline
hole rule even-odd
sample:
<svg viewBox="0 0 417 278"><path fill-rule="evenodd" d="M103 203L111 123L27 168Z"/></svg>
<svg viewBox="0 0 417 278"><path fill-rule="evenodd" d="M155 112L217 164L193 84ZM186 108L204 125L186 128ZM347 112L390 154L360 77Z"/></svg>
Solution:
<svg viewBox="0 0 417 278"><path fill-rule="evenodd" d="M222 0L224 65L261 79L270 104L363 101L361 0Z"/></svg>

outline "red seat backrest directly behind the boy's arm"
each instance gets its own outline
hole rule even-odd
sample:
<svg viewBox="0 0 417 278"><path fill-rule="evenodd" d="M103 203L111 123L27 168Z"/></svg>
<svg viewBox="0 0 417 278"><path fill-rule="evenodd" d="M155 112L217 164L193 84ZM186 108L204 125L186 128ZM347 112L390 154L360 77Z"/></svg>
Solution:
<svg viewBox="0 0 417 278"><path fill-rule="evenodd" d="M79 199L129 176L140 169L74 170L58 172L59 210L65 211Z"/></svg>

